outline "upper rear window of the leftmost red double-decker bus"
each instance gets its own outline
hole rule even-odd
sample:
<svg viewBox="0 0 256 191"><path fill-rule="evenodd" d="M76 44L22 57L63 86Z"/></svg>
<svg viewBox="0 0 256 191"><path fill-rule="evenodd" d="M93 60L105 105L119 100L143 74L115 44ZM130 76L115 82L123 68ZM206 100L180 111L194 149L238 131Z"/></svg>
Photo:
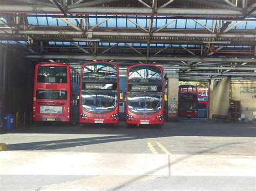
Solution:
<svg viewBox="0 0 256 191"><path fill-rule="evenodd" d="M66 67L63 66L39 66L37 71L39 83L67 83Z"/></svg>

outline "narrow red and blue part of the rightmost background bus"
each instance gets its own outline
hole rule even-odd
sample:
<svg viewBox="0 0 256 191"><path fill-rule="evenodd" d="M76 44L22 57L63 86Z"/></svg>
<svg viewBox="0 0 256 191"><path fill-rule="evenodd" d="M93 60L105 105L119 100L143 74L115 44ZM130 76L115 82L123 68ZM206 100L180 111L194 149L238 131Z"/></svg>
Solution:
<svg viewBox="0 0 256 191"><path fill-rule="evenodd" d="M208 88L198 88L198 117L207 118Z"/></svg>

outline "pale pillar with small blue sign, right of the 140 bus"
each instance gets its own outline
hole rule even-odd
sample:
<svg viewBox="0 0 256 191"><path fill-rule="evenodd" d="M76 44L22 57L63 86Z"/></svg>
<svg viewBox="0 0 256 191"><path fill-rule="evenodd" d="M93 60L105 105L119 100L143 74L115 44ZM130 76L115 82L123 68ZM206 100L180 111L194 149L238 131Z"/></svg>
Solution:
<svg viewBox="0 0 256 191"><path fill-rule="evenodd" d="M178 121L178 93L179 73L178 70L168 70L168 121Z"/></svg>

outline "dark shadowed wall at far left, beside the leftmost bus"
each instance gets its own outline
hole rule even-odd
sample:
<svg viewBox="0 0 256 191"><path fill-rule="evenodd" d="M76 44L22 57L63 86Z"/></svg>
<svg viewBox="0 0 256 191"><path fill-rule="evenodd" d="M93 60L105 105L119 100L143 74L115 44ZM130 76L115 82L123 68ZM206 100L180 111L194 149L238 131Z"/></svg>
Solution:
<svg viewBox="0 0 256 191"><path fill-rule="evenodd" d="M0 44L0 110L4 114L19 112L19 124L30 123L34 63L23 58L19 49ZM1 111L0 111L1 115Z"/></svg>

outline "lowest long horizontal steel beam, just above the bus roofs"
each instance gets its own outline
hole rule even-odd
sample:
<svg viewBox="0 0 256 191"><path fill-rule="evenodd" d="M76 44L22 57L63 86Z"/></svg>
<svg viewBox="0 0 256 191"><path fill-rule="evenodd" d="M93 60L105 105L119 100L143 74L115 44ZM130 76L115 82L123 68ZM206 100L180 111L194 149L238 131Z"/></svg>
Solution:
<svg viewBox="0 0 256 191"><path fill-rule="evenodd" d="M74 54L48 54L33 55L29 54L26 58L33 59L74 59L74 60L147 60L146 56L127 56L127 55L74 55ZM169 57L169 56L150 56L149 61L201 61L201 62L255 62L251 58L199 58L199 57ZM220 68L219 68L220 69Z"/></svg>

